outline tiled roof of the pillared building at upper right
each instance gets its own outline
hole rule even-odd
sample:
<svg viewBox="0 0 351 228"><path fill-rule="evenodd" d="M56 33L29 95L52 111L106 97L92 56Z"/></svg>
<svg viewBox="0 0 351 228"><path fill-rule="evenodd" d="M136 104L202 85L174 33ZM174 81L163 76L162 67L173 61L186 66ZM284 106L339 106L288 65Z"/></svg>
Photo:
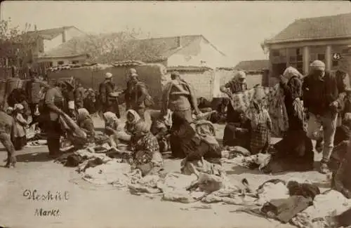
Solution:
<svg viewBox="0 0 351 228"><path fill-rule="evenodd" d="M351 13L296 20L267 44L335 38L351 38Z"/></svg>

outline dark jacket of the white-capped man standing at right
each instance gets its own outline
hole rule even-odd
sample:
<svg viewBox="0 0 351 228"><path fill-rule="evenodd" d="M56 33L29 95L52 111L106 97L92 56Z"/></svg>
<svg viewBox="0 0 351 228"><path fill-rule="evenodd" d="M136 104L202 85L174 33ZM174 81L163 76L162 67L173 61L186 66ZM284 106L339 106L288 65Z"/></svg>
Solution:
<svg viewBox="0 0 351 228"><path fill-rule="evenodd" d="M339 106L343 104L345 89L347 88L345 79L337 80L335 74L326 71L323 79L316 79L313 75L308 75L303 80L303 105L312 114L324 114L331 110L331 103L337 101Z"/></svg>

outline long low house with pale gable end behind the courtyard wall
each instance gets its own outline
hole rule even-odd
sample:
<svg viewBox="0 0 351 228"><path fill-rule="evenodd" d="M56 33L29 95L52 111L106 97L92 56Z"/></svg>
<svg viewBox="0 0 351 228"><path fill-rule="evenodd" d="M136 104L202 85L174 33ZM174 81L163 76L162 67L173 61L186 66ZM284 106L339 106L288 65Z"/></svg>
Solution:
<svg viewBox="0 0 351 228"><path fill-rule="evenodd" d="M225 58L225 54L219 51L216 46L202 35L152 39L135 39L134 37L126 37L125 35L128 34L119 32L100 34L99 36L84 36L62 44L58 48L55 48L55 52L72 51L77 55L93 52L93 49L87 49L84 43L88 44L88 40L94 39L90 42L91 44L98 43L98 46L103 46L98 54L108 53L109 51L124 51L124 48L129 49L126 51L128 55L124 59L121 59L123 55L119 55L116 56L116 59L110 60L112 62L137 60L146 63L161 63L166 67L196 66L215 68L221 65L223 58ZM74 45L79 48L73 47ZM121 47L121 45L124 47ZM91 55L94 54L91 53Z"/></svg>

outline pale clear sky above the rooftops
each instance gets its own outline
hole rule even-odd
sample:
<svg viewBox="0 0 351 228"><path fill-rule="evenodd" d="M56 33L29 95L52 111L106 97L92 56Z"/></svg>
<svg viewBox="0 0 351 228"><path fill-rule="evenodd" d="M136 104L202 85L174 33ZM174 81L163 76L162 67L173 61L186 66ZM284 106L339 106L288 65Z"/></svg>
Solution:
<svg viewBox="0 0 351 228"><path fill-rule="evenodd" d="M260 43L299 18L351 13L351 1L2 1L1 20L88 33L141 29L151 37L202 34L225 66L267 59Z"/></svg>

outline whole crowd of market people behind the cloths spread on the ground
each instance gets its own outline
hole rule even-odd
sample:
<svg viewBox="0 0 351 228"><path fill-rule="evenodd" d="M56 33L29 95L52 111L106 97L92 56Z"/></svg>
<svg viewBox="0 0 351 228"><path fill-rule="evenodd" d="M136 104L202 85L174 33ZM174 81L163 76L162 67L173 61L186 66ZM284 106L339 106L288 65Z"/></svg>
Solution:
<svg viewBox="0 0 351 228"><path fill-rule="evenodd" d="M319 171L329 173L331 160L336 157L333 156L334 152L340 151L341 144L344 148L341 150L345 152L345 145L351 136L351 89L345 72L338 70L331 73L325 68L324 62L315 60L310 65L310 74L305 77L293 67L286 68L280 76L289 129L282 140L273 146L270 143L272 119L265 105L263 88L255 88L249 111L234 109L229 99L230 102L226 103L227 124L223 146L244 147L251 154L269 152L272 153L272 164L289 163L293 164L292 169L300 167L300 170L311 170L314 163L312 140L317 140L317 150L323 145ZM216 140L216 129L211 121L201 118L201 110L206 112L206 104L200 100L204 105L201 107L192 86L178 72L173 72L171 81L164 86L160 112L148 110L153 100L147 85L139 79L138 72L129 69L127 76L126 90L123 92L127 109L124 127L120 121L120 94L111 73L105 74L105 81L99 87L98 103L105 120L105 135L108 135L112 147L126 142L133 152L135 166L144 173L160 170L161 154L167 151L171 151L173 157L183 159L182 166L204 159L219 163L223 147ZM245 72L237 72L220 90L229 96L244 93L248 90ZM91 114L96 110L86 108L84 94L86 90L81 85L74 89L71 83L65 81L51 87L38 83L33 76L27 86L29 112L25 111L23 101L16 102L7 113L0 112L0 140L8 151L6 166L15 164L14 150L25 145L23 137L29 114L33 122L39 122L45 131L50 156L61 154L60 138L67 136L67 132L62 130L61 116L72 118L85 133L86 139L83 141L76 140L79 134L69 133L72 138L75 137L73 142L82 142L80 146L94 142L96 134ZM91 97L95 99L93 95ZM342 121L338 121L340 119ZM337 158L340 160L340 156ZM334 176L337 176L336 170L333 169Z"/></svg>

